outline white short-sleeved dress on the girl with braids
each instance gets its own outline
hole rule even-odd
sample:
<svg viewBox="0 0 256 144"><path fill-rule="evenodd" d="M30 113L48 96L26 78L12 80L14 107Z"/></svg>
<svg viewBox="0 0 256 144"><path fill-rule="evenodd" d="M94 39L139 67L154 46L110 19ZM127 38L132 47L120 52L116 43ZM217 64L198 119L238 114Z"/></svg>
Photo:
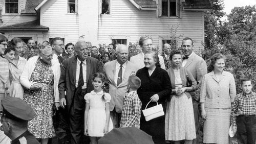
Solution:
<svg viewBox="0 0 256 144"><path fill-rule="evenodd" d="M102 95L105 94L104 101ZM110 103L111 96L109 93L91 91L84 95L84 100L89 103L89 112L87 127L89 136L103 136L103 130L106 124L105 103ZM109 131L113 129L113 123L110 118Z"/></svg>

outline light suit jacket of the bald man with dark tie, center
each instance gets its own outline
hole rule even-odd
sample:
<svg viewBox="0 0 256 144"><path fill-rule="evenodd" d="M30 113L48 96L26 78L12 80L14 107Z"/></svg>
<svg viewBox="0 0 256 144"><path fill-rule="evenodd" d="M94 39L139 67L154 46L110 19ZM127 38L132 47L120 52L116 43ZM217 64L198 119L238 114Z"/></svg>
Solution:
<svg viewBox="0 0 256 144"><path fill-rule="evenodd" d="M127 61L122 83L117 86L115 83L115 73L116 73L116 62L117 60L113 60L110 62L107 62L104 64L103 68L105 69L106 78L109 82L109 93L111 95L111 101L110 101L110 111L114 110L114 107L116 107L116 112L121 113L122 107L123 107L123 95L128 90L127 89L127 83L128 78L131 75L135 75L137 73L137 70L139 69L136 65L133 63Z"/></svg>

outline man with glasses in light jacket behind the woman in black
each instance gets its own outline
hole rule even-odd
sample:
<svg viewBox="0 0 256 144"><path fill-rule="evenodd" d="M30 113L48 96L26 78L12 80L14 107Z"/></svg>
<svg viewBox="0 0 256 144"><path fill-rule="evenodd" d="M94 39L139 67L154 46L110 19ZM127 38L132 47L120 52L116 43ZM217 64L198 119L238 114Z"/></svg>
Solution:
<svg viewBox="0 0 256 144"><path fill-rule="evenodd" d="M139 45L142 48L142 53L132 56L130 58L130 62L136 64L137 66L139 66L139 68L143 68L145 66L145 64L144 64L145 53L147 51L151 51L153 48L152 38L148 37L148 36L140 37ZM158 57L159 57L159 62L160 62L161 68L165 69L163 57L160 55L158 55Z"/></svg>

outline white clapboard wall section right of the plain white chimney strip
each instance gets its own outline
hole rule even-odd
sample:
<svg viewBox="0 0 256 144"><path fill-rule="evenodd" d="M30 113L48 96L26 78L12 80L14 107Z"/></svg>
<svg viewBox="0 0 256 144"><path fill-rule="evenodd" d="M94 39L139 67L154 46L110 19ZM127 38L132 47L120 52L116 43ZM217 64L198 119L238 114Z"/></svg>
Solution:
<svg viewBox="0 0 256 144"><path fill-rule="evenodd" d="M111 43L111 37L126 37L127 42L138 42L140 36L150 35L157 46L162 44L161 37L171 36L169 30L174 26L176 36L183 35L177 45L190 37L199 51L204 40L202 16L202 11L182 11L181 18L157 18L156 10L139 10L129 1L111 0L111 16L99 16L98 39Z"/></svg>

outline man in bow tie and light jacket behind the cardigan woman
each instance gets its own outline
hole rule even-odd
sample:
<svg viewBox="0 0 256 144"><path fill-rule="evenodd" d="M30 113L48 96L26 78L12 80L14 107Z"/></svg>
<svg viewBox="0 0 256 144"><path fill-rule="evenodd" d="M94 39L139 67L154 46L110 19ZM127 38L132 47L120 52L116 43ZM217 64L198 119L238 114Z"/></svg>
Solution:
<svg viewBox="0 0 256 144"><path fill-rule="evenodd" d="M198 56L195 52L193 52L193 40L189 37L185 37L181 43L182 51L183 51L183 60L182 67L186 68L191 72L197 84L199 85L199 89L195 92L190 92L191 97L193 98L193 108L194 108L194 116L195 116L195 125L196 125L196 134L197 139L193 140L193 143L201 143L199 140L202 139L202 132L199 129L199 116L201 115L199 112L198 104L200 98L200 88L203 76L207 74L207 65L206 62Z"/></svg>

